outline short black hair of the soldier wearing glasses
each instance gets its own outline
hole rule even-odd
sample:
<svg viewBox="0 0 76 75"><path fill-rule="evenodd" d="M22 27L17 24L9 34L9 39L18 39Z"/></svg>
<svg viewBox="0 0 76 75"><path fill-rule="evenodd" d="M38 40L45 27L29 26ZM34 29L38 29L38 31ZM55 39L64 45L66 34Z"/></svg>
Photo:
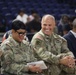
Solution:
<svg viewBox="0 0 76 75"><path fill-rule="evenodd" d="M23 22L16 20L12 22L12 29L14 30L25 29L26 30L26 26Z"/></svg>

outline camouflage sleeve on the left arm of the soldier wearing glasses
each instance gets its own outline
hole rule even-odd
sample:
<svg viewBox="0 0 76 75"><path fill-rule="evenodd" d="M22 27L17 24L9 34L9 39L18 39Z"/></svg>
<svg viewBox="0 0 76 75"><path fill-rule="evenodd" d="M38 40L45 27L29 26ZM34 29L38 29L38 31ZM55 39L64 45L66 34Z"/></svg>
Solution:
<svg viewBox="0 0 76 75"><path fill-rule="evenodd" d="M19 74L21 72L27 72L28 66L24 64L19 64L14 61L14 54L8 45L3 45L1 49L4 50L3 68L6 72Z"/></svg>

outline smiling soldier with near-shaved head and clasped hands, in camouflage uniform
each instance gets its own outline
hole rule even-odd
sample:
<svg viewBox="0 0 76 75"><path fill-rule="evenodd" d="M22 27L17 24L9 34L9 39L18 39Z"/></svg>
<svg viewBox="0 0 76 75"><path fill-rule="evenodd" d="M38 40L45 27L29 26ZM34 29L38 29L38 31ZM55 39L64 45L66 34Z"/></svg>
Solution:
<svg viewBox="0 0 76 75"><path fill-rule="evenodd" d="M55 18L45 15L41 21L42 29L36 33L31 41L38 60L44 60L48 69L45 75L76 75L75 59L67 48L67 42L55 34Z"/></svg>

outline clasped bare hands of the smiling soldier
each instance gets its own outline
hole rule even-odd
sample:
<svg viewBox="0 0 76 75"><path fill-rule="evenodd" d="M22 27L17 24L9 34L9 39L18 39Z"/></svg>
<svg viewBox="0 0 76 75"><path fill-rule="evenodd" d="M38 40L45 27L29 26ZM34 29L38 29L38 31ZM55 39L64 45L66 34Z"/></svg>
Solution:
<svg viewBox="0 0 76 75"><path fill-rule="evenodd" d="M65 56L62 59L60 59L60 64L73 68L75 66L75 61L76 59L74 59L73 57Z"/></svg>

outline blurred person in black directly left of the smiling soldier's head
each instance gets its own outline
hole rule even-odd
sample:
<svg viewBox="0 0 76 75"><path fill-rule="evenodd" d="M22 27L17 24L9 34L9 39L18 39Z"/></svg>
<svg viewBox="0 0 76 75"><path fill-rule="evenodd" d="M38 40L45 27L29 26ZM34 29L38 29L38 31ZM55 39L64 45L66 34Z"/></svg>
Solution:
<svg viewBox="0 0 76 75"><path fill-rule="evenodd" d="M34 14L34 19L26 23L27 32L35 33L41 29L40 16Z"/></svg>

